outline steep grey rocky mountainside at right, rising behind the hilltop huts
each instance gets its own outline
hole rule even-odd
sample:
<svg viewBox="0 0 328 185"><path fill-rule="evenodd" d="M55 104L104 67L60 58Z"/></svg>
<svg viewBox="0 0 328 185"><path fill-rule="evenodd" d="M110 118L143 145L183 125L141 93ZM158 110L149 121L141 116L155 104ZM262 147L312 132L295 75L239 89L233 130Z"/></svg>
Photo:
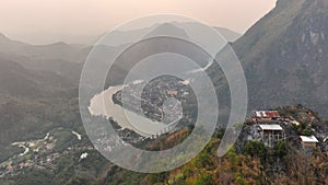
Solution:
<svg viewBox="0 0 328 185"><path fill-rule="evenodd" d="M302 103L327 117L327 0L278 0L233 43L248 83L249 111Z"/></svg>

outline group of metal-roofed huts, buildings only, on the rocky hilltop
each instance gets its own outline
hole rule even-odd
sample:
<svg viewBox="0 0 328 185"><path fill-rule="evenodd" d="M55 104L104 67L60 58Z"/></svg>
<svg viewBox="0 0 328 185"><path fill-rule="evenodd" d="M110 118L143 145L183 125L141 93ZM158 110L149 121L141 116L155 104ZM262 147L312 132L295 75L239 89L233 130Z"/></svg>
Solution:
<svg viewBox="0 0 328 185"><path fill-rule="evenodd" d="M273 147L280 140L286 140L284 126L300 124L290 118L282 118L277 111L255 111L249 122L253 125L249 140L260 140L267 147ZM298 136L303 149L316 149L318 139L312 136Z"/></svg>

